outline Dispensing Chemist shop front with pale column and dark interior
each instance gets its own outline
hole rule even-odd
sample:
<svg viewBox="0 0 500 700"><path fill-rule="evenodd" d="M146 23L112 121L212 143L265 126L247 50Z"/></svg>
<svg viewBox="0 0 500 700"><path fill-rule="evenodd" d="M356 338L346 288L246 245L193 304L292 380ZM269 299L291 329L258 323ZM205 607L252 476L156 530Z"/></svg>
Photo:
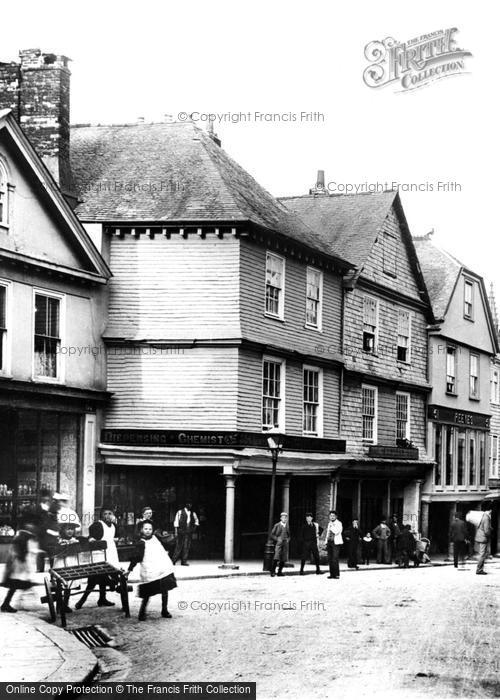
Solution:
<svg viewBox="0 0 500 700"><path fill-rule="evenodd" d="M172 531L189 499L200 520L194 558L230 565L263 556L271 484L264 433L104 429L99 451L96 508L111 505L127 534L145 505ZM327 519L330 474L344 451L343 440L284 437L274 514L290 513L292 535L308 511Z"/></svg>

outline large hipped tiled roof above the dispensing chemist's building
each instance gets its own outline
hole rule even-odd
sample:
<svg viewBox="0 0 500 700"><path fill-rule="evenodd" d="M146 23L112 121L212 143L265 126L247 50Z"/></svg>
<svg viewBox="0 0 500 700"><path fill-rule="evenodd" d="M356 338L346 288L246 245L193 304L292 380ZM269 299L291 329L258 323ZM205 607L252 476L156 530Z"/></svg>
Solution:
<svg viewBox="0 0 500 700"><path fill-rule="evenodd" d="M73 126L71 165L83 221L250 222L342 258L192 122Z"/></svg>

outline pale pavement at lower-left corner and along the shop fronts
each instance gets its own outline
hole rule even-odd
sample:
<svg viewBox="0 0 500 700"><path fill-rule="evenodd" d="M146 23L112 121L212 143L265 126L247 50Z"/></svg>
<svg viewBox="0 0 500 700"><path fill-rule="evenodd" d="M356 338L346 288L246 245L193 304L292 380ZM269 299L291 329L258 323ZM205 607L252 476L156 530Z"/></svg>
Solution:
<svg viewBox="0 0 500 700"><path fill-rule="evenodd" d="M498 560L496 560L498 562ZM472 564L472 562L470 562ZM450 566L452 562L445 560L444 555L435 556L431 564L421 568ZM124 568L126 562L123 563ZM237 562L238 568L220 568L219 562L193 561L189 566L175 567L176 578L179 582L197 581L202 579L237 579L241 577L267 576L268 572L262 571L262 562L243 561ZM0 578L2 576L0 565ZM321 567L326 571L324 565ZM360 574L363 572L375 572L397 568L384 564L371 564L361 566L359 571L348 569L345 562L341 562L341 575L344 573ZM298 576L300 565L293 562L293 566L284 569L287 577ZM306 565L306 574L314 574L314 566ZM131 584L138 581L139 568L129 578ZM323 577L322 577L323 578ZM49 624L48 609L40 604L40 596L44 594L42 587L43 574L37 574L36 585L30 593L31 601L26 605L25 599L19 600L19 593L13 600L13 605L20 611L16 614L1 614L1 624L4 639L9 640L9 645L3 648L0 656L0 682L42 682L42 681L67 681L71 679L75 683L88 681L96 672L96 656L73 635L68 634L61 627ZM24 608L29 613L22 612ZM75 618L76 621L76 618ZM95 620L94 620L95 622ZM88 622L86 622L88 624Z"/></svg>

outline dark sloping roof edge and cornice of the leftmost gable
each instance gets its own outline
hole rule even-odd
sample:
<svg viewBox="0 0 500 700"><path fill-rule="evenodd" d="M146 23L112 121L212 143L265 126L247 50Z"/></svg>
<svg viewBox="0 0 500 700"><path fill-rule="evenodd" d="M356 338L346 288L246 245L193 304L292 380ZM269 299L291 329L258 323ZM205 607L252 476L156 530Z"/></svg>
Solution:
<svg viewBox="0 0 500 700"><path fill-rule="evenodd" d="M24 164L29 168L29 172L40 183L43 194L48 198L49 206L59 223L60 233L67 238L68 243L71 244L73 248L80 251L82 259L88 261L87 268L81 270L76 268L63 269L64 266L51 265L50 260L37 260L33 261L33 264L35 262L39 264L47 262L49 267L57 267L61 272L66 272L68 274L81 273L81 276L94 279L95 281L105 282L111 277L109 267L106 265L106 262L71 207L66 202L54 178L35 152L28 138L15 120L12 111L9 109L0 110L0 134L2 133L8 135L11 147L13 146L16 149L19 157L23 159ZM13 256L15 256L15 253L12 251L5 251L5 257L11 258ZM30 263L29 256L24 255L22 257L24 262Z"/></svg>

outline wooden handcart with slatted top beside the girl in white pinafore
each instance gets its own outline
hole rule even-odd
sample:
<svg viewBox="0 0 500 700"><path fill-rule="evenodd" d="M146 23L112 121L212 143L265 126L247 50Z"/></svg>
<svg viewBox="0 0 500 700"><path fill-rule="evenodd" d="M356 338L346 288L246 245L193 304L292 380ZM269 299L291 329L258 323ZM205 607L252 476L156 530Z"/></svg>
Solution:
<svg viewBox="0 0 500 700"><path fill-rule="evenodd" d="M108 590L118 591L125 617L130 617L128 592L131 586L125 573L106 561L106 547L103 541L79 542L52 553L51 568L45 577L46 595L41 598L41 602L49 606L52 622L56 622L59 613L61 626L66 627L67 601L80 593L80 586L74 584L89 577L95 578L96 585L105 582Z"/></svg>

